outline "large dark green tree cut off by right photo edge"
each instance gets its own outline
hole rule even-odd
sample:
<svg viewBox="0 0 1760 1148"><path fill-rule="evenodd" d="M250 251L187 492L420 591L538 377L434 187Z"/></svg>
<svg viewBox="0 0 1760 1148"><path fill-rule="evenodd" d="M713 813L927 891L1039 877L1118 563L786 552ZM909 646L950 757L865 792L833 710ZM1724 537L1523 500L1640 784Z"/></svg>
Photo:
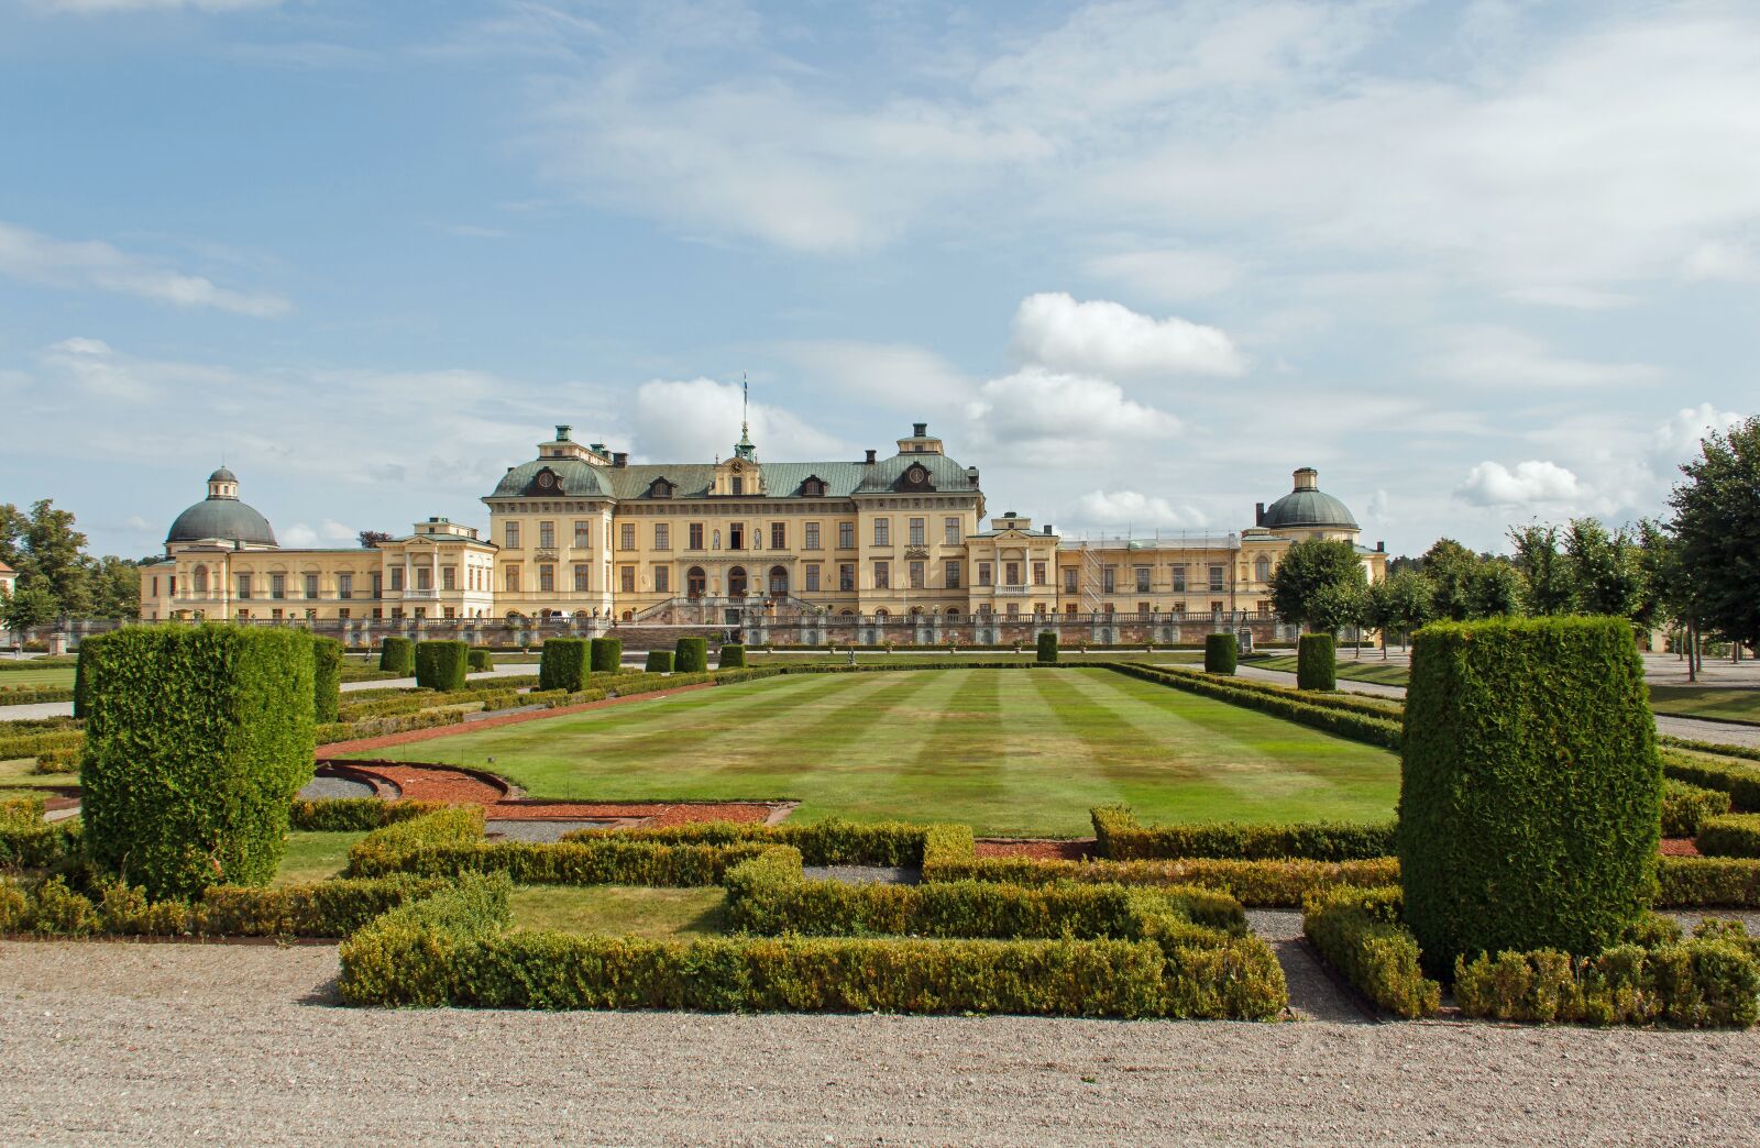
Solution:
<svg viewBox="0 0 1760 1148"><path fill-rule="evenodd" d="M1760 417L1711 431L1668 495L1690 614L1760 643Z"/></svg>

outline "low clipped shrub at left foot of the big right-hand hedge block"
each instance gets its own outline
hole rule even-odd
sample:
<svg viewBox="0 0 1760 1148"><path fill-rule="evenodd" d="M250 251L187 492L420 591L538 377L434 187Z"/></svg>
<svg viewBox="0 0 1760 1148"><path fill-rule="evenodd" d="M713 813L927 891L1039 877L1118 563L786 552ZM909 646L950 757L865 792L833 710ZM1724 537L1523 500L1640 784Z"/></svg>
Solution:
<svg viewBox="0 0 1760 1148"><path fill-rule="evenodd" d="M1415 1018L1441 1005L1441 984L1424 977L1417 937L1399 923L1397 887L1315 893L1302 933L1376 1007Z"/></svg>

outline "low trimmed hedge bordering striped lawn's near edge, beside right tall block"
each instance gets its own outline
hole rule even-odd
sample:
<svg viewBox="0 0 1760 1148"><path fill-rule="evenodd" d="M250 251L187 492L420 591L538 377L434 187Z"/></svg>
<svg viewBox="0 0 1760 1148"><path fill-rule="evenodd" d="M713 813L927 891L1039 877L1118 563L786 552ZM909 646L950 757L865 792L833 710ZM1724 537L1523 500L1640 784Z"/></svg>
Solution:
<svg viewBox="0 0 1760 1148"><path fill-rule="evenodd" d="M1089 815L1098 852L1111 861L1169 857L1366 861L1394 852L1392 822L1316 821L1287 826L1204 822L1146 828L1123 806L1098 806Z"/></svg>

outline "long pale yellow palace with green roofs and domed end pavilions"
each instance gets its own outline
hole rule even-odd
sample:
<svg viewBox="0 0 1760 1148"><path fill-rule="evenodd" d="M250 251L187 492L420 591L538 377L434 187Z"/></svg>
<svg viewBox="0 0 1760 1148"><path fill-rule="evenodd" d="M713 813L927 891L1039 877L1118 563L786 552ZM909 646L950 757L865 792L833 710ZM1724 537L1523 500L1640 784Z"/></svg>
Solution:
<svg viewBox="0 0 1760 1148"><path fill-rule="evenodd" d="M1357 546L1350 509L1313 468L1232 534L1067 541L1014 511L986 519L977 467L917 423L889 458L759 458L741 431L709 463L630 463L568 426L509 467L479 534L445 518L371 548L294 549L220 468L141 569L144 620L570 620L882 625L1118 618L1202 629L1271 623L1269 578L1301 539ZM343 627L347 629L347 627ZM818 637L822 641L822 637Z"/></svg>

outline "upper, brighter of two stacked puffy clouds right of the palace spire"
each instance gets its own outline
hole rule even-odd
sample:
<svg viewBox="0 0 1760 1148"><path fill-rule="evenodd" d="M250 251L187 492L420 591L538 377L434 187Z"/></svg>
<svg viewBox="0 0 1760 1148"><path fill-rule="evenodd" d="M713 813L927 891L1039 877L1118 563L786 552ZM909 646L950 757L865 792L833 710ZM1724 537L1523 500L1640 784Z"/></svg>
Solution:
<svg viewBox="0 0 1760 1148"><path fill-rule="evenodd" d="M1077 303L1040 292L1014 313L1014 352L1023 361L1102 379L1239 375L1234 342L1218 327L1184 319L1149 319L1105 299Z"/></svg>

